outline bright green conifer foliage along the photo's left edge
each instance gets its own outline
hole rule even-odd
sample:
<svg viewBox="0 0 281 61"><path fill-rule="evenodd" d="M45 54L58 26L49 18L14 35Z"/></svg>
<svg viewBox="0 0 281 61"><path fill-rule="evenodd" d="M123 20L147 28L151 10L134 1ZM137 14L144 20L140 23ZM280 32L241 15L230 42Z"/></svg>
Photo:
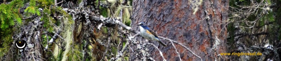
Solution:
<svg viewBox="0 0 281 61"><path fill-rule="evenodd" d="M22 24L19 9L23 7L22 0L11 1L10 4L0 5L0 57L2 57L9 49L13 42L12 33L14 25Z"/></svg>

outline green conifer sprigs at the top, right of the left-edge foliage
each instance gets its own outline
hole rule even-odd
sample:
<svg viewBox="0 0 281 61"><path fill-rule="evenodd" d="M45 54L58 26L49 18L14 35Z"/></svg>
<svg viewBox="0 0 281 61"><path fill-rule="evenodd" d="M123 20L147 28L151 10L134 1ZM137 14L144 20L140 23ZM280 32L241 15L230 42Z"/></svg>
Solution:
<svg viewBox="0 0 281 61"><path fill-rule="evenodd" d="M36 5L36 3L39 4ZM53 27L55 23L59 22L53 19L51 15L62 14L62 16L65 16L63 18L67 18L69 23L72 24L72 16L62 10L62 7L53 6L53 4L52 0L30 0L30 6L25 9L25 12L42 16L40 20L43 21L43 27L46 28L48 32L54 31ZM42 8L43 13L40 13L38 8Z"/></svg>

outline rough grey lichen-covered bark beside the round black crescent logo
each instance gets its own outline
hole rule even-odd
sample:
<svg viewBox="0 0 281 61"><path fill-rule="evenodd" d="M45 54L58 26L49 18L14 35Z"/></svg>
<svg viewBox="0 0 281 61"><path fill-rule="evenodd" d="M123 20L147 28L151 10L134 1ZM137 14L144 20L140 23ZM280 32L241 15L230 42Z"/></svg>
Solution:
<svg viewBox="0 0 281 61"><path fill-rule="evenodd" d="M20 30L21 32L13 36L15 40L23 39L26 40L27 46L24 50L19 50L19 60L32 61L32 60L43 60L42 57L42 46L41 43L41 28L42 22L40 22L41 17L35 17L32 21L28 22L28 25L23 25Z"/></svg>

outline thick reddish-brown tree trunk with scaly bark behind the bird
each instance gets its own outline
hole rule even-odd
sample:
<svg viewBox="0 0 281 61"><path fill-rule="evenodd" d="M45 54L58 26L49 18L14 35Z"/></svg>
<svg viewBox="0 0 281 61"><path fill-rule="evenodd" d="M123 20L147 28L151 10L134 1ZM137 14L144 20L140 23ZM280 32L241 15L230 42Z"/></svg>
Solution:
<svg viewBox="0 0 281 61"><path fill-rule="evenodd" d="M146 22L149 27L158 33L158 36L176 40L187 46L203 61L226 60L219 53L226 52L227 28L222 22L228 18L228 0L134 0L132 14L132 28L139 29L137 23ZM194 13L194 14L193 14ZM138 41L145 39L139 37ZM168 46L163 47L153 42L168 61L179 61L175 49L170 42L162 40ZM198 61L182 46L175 44L181 60ZM132 46L134 52L142 52ZM148 54L154 60L160 60L159 51L147 45ZM146 49L146 48L144 48ZM130 60L143 60L145 54L131 54ZM148 55L148 56L149 56ZM149 58L149 57L148 57ZM146 58L146 59L148 59Z"/></svg>

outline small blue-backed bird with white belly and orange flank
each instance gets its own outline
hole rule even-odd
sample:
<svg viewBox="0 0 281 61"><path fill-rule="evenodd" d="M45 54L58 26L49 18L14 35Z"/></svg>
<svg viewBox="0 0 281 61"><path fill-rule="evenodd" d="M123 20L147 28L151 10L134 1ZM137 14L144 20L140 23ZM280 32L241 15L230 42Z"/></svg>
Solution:
<svg viewBox="0 0 281 61"><path fill-rule="evenodd" d="M144 37L145 39L148 39L148 40L154 40L154 41L157 41L159 42L161 45L163 46L167 46L166 44L164 44L164 42L162 42L157 34L155 32L153 32L147 25L146 23L144 22L140 22L138 24L139 28L140 28L140 34L142 37Z"/></svg>

